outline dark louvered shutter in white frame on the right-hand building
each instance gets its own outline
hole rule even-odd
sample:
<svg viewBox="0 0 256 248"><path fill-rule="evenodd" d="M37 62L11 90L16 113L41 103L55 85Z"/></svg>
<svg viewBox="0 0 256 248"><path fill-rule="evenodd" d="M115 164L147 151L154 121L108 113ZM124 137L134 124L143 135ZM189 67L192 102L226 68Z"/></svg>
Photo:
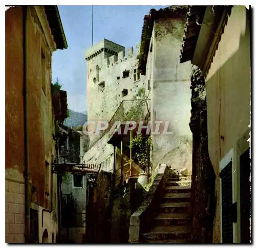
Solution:
<svg viewBox="0 0 256 248"><path fill-rule="evenodd" d="M220 173L221 178L221 210L222 210L222 242L233 242L232 222L232 161Z"/></svg>

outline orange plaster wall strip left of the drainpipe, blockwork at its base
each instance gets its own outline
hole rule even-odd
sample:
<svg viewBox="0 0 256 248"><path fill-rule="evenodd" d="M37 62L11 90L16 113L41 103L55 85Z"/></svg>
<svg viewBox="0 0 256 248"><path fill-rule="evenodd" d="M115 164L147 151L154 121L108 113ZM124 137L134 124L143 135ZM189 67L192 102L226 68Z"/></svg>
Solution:
<svg viewBox="0 0 256 248"><path fill-rule="evenodd" d="M25 242L22 8L6 11L6 242ZM14 66L15 65L15 66ZM13 156L15 155L15 156Z"/></svg>

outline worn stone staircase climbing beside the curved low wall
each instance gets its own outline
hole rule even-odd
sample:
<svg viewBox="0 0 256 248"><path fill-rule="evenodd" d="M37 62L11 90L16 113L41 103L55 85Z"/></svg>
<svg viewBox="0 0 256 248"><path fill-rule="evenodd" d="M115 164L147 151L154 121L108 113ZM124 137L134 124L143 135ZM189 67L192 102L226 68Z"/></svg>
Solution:
<svg viewBox="0 0 256 248"><path fill-rule="evenodd" d="M168 178L152 227L142 234L142 243L189 243L190 187L190 176Z"/></svg>

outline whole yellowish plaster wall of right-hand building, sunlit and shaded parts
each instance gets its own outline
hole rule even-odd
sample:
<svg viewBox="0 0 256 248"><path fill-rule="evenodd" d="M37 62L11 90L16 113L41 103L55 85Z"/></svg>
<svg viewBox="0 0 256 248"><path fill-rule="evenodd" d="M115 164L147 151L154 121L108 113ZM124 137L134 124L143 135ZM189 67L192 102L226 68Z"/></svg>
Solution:
<svg viewBox="0 0 256 248"><path fill-rule="evenodd" d="M219 161L234 147L234 168L239 167L236 158L241 154L235 151L237 141L247 132L250 124L249 32L246 8L234 6L206 78L208 147L216 173L214 242L220 242ZM236 177L237 174L235 180ZM239 187L239 183L236 187ZM235 194L234 198L238 199L239 207L239 196ZM235 229L239 233L239 227ZM239 235L236 237L239 239Z"/></svg>

